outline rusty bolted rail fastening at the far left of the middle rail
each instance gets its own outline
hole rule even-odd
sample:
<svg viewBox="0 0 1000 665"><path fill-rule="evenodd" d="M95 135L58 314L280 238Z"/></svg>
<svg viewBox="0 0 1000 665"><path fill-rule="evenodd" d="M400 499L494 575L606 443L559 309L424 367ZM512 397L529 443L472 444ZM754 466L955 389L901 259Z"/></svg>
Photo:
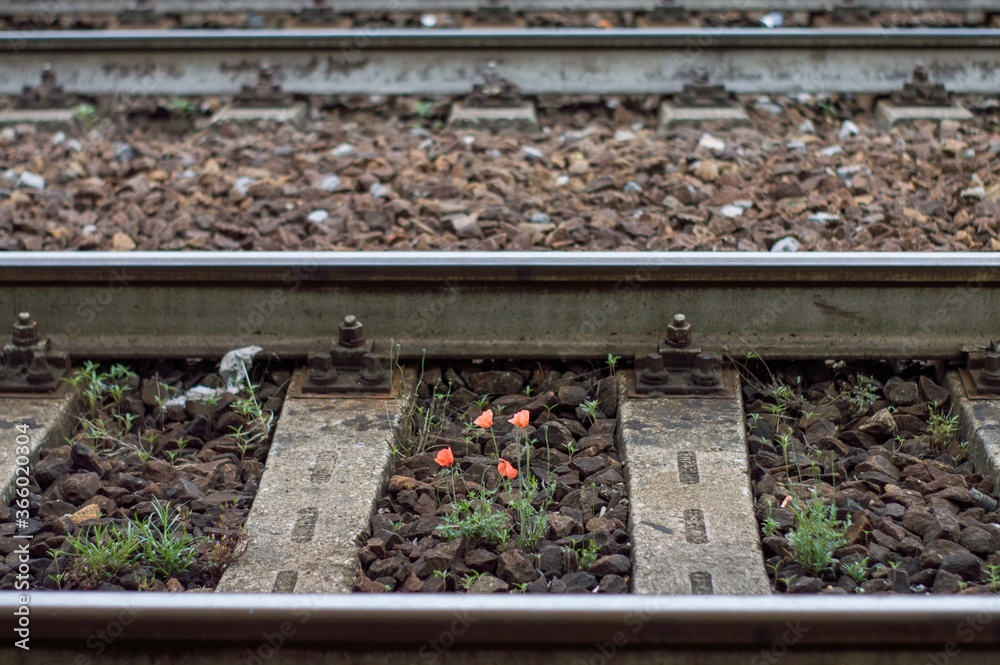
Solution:
<svg viewBox="0 0 1000 665"><path fill-rule="evenodd" d="M28 312L18 314L11 339L0 356L0 393L49 393L69 370L69 356L54 351Z"/></svg>

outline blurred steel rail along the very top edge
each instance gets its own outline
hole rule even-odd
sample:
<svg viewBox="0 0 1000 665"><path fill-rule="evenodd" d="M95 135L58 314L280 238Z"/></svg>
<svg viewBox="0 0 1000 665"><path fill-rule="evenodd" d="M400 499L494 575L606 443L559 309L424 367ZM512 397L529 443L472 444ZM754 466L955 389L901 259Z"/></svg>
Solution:
<svg viewBox="0 0 1000 665"><path fill-rule="evenodd" d="M148 7L160 14L193 13L295 13L304 8L328 7L332 12L473 12L501 6L514 12L648 12L669 7L687 12L832 11L836 0L153 0ZM1000 11L997 0L859 0L851 7L871 11ZM37 0L3 0L0 15L120 14L136 7L136 0L74 0L40 3Z"/></svg>

